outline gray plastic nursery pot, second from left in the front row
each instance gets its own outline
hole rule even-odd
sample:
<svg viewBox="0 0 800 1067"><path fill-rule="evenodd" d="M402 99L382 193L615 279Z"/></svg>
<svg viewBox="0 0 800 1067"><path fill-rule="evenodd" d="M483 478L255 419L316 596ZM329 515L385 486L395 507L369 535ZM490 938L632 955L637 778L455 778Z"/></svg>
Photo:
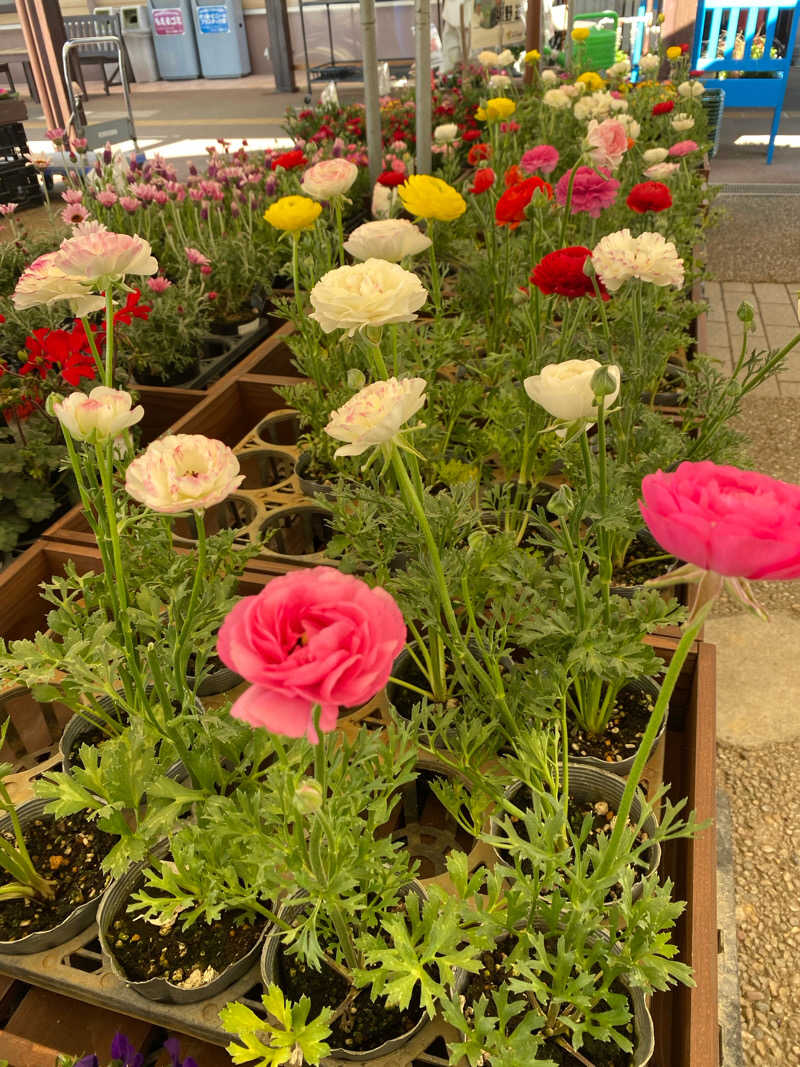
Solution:
<svg viewBox="0 0 800 1067"><path fill-rule="evenodd" d="M111 970L121 982L125 983L128 989L151 1001L162 1001L169 1004L194 1004L197 1001L215 997L217 993L227 989L228 986L246 974L258 960L258 955L261 951L261 938L258 939L244 956L226 967L217 977L196 988L187 989L162 977L148 978L145 982L131 981L114 955L114 950L111 945L111 926L123 910L130 893L137 888L138 882L141 881L143 872L151 864L153 860L163 859L169 849L170 843L167 841L160 842L151 850L148 859L131 864L122 877L109 886L97 911L97 929L102 951L109 960Z"/></svg>

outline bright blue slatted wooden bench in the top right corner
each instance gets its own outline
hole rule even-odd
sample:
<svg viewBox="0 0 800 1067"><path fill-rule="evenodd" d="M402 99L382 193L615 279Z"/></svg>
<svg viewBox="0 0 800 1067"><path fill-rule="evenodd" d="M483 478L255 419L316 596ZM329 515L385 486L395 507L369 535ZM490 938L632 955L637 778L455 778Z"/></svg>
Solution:
<svg viewBox="0 0 800 1067"><path fill-rule="evenodd" d="M784 12L791 16L788 35L780 42L783 55L773 58L771 52L779 44L775 29ZM698 4L691 69L703 74L730 71L750 76L704 78L703 84L708 89L723 89L726 108L772 108L768 163L772 162L775 134L781 124L799 14L798 0L772 0L768 5L700 0Z"/></svg>

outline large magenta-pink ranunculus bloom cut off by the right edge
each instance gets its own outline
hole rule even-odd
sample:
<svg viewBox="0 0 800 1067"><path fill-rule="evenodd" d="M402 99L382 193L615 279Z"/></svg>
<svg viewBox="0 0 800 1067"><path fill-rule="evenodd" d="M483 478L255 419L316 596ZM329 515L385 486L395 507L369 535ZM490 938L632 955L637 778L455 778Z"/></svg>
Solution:
<svg viewBox="0 0 800 1067"><path fill-rule="evenodd" d="M710 461L642 481L639 508L667 552L727 578L800 578L800 485Z"/></svg>

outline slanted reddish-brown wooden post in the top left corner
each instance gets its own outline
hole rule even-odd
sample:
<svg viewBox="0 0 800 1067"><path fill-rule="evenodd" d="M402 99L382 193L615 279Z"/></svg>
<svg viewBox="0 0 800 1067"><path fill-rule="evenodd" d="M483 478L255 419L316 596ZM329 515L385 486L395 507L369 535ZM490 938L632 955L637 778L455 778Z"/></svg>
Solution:
<svg viewBox="0 0 800 1067"><path fill-rule="evenodd" d="M45 121L51 129L66 129L69 99L61 62L66 31L59 2L16 0L16 3Z"/></svg>

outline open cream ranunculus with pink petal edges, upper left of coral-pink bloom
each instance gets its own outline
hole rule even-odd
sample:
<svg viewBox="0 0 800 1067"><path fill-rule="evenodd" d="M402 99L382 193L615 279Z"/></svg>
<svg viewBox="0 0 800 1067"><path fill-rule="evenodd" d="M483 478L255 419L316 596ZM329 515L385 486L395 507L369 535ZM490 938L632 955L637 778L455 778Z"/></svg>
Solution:
<svg viewBox="0 0 800 1067"><path fill-rule="evenodd" d="M239 460L222 441L175 433L154 441L133 460L125 488L153 511L174 515L221 504L243 480Z"/></svg>

